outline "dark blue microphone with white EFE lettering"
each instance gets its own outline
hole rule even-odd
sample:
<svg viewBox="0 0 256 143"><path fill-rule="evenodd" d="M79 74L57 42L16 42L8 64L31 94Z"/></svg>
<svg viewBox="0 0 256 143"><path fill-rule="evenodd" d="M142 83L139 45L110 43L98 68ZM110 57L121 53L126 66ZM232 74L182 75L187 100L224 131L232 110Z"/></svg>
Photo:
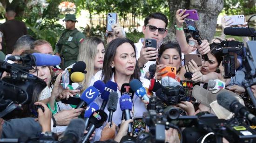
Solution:
<svg viewBox="0 0 256 143"><path fill-rule="evenodd" d="M108 103L109 94L113 91L117 91L117 84L113 81L108 81L106 84L105 90L101 94L101 99L103 99L103 102L101 104L101 110L105 109Z"/></svg>

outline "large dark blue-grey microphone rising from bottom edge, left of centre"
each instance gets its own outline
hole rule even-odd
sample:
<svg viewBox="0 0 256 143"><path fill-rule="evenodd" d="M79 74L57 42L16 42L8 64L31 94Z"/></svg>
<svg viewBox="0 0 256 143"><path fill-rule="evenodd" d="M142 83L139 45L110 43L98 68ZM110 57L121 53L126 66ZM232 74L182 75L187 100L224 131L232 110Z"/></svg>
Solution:
<svg viewBox="0 0 256 143"><path fill-rule="evenodd" d="M80 143L84 130L85 126L82 119L72 119L68 124L60 143Z"/></svg>

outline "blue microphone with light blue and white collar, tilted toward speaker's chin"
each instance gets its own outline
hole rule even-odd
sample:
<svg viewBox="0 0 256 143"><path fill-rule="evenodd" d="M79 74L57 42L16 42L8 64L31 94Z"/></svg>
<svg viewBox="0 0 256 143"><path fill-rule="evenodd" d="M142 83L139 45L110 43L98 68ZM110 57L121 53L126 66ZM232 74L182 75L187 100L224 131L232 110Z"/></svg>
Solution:
<svg viewBox="0 0 256 143"><path fill-rule="evenodd" d="M147 96L147 91L146 89L142 86L141 82L138 79L133 79L130 82L130 87L131 89L135 92L135 94L138 97L142 97L144 100L149 102L149 98Z"/></svg>

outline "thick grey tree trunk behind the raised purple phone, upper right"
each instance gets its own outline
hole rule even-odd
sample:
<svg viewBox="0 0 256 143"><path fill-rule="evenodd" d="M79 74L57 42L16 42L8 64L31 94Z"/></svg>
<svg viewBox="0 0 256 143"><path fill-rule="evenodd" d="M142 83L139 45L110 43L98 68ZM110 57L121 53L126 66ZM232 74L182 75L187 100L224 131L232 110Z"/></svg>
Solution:
<svg viewBox="0 0 256 143"><path fill-rule="evenodd" d="M223 0L190 0L189 9L196 9L199 16L195 23L202 39L213 39L223 4Z"/></svg>

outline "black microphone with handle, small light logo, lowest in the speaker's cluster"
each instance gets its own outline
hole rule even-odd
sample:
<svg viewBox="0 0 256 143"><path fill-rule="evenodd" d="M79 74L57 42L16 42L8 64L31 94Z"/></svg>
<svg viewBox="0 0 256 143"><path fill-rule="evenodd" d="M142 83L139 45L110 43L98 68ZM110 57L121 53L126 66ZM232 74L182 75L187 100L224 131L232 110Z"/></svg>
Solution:
<svg viewBox="0 0 256 143"><path fill-rule="evenodd" d="M96 110L89 118L90 126L88 128L88 133L83 137L82 143L87 143L90 136L93 134L96 128L102 126L102 124L107 120L107 113L103 110Z"/></svg>

